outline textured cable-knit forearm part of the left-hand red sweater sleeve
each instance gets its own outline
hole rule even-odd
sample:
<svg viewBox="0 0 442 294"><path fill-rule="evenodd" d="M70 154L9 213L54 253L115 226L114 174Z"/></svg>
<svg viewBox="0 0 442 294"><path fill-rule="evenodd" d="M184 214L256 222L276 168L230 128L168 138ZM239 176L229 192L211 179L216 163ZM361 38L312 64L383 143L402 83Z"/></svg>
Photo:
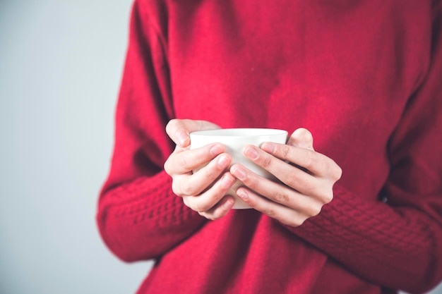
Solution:
<svg viewBox="0 0 442 294"><path fill-rule="evenodd" d="M174 195L164 171L107 190L97 223L104 242L127 262L152 259L189 238L205 219Z"/></svg>

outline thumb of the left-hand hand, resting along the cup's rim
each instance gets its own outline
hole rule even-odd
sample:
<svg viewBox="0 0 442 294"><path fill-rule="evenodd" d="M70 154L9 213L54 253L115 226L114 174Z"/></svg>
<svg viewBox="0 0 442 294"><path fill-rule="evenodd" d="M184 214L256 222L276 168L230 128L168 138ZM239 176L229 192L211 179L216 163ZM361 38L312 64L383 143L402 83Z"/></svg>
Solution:
<svg viewBox="0 0 442 294"><path fill-rule="evenodd" d="M190 145L189 134L196 130L213 130L220 128L215 123L208 121L193 121L190 119L172 119L166 125L166 133L179 147Z"/></svg>

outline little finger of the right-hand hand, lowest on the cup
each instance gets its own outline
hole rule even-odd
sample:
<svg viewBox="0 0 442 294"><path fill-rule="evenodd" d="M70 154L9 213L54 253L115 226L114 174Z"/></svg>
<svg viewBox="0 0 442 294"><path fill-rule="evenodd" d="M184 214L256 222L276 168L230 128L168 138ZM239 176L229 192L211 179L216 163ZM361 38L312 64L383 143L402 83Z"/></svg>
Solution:
<svg viewBox="0 0 442 294"><path fill-rule="evenodd" d="M295 210L277 202L270 201L244 187L238 188L237 195L242 201L244 201L244 203L248 204L253 209L270 216L273 219L277 219L277 221L280 221L287 226L301 226L306 219L311 217L304 214L303 211ZM316 212L314 213L316 215Z"/></svg>

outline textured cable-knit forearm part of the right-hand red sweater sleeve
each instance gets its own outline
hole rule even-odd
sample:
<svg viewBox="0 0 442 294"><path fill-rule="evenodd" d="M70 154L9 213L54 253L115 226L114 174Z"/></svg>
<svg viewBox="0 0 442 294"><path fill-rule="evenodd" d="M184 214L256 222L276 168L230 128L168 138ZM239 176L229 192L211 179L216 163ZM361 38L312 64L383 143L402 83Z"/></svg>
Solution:
<svg viewBox="0 0 442 294"><path fill-rule="evenodd" d="M334 199L296 228L285 226L368 281L398 288L431 283L441 230L417 209L364 200L336 184Z"/></svg>

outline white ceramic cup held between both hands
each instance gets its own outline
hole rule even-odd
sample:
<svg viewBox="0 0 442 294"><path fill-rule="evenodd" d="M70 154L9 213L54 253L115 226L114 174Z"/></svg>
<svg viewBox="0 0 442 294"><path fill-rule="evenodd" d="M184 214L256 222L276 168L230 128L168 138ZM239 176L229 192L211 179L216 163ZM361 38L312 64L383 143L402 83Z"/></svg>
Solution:
<svg viewBox="0 0 442 294"><path fill-rule="evenodd" d="M190 137L191 149L203 147L215 142L221 143L222 145L225 145L225 152L232 156L232 165L241 164L254 173L272 180L274 177L268 173L268 171L265 171L260 166L253 164L252 161L244 157L243 149L246 145L255 145L259 147L263 142L285 144L287 141L287 131L270 128L225 128L218 130L199 130L191 133ZM199 169L202 167L203 166ZM198 169L196 169L196 171L198 171ZM237 197L236 190L241 185L242 183L237 180L229 192L227 192L227 195L232 195L235 198L234 209L251 208Z"/></svg>

